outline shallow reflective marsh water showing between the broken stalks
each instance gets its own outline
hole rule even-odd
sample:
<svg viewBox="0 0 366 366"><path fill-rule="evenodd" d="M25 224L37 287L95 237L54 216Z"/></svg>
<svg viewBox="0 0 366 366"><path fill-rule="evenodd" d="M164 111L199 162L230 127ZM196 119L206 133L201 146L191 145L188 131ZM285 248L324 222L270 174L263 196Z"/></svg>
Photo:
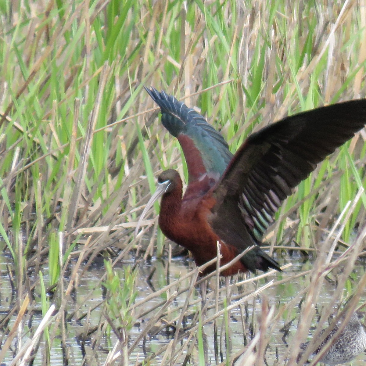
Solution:
<svg viewBox="0 0 366 366"><path fill-rule="evenodd" d="M290 259L290 258L289 258ZM292 258L292 262L294 264L287 268L284 273L274 273L272 276L268 277L266 281L270 279L275 279L276 281L281 280L285 276L291 276L296 273L301 273L310 269L312 266L311 261L306 261L305 263L299 263L299 258ZM120 271L121 276L123 272L123 267L130 264L132 265L134 262L133 258L131 258L130 262L120 263L115 270ZM8 266L11 266L11 258L7 256L0 257L0 270L1 270L1 287L0 287L0 305L1 305L1 314L3 316L7 313L8 308L10 307L12 301L12 289L10 286L10 281L8 278ZM170 264L169 277L167 279L166 272L166 263L163 260L152 258L149 263L143 262L138 268L138 278L136 282L138 296L136 301L142 300L146 296L152 294L154 291L159 290L167 285L167 281L174 281L175 279L184 276L190 270L194 268L194 263L190 259L186 258L173 258ZM46 268L43 269L45 274L47 273ZM83 268L81 268L83 270ZM365 272L365 266L363 264L358 264L352 273L355 281L360 278ZM147 280L149 275L151 276L151 282ZM104 339L101 341L98 350L93 350L93 334L90 335L89 339L84 339L81 342L80 335L85 329L85 322L88 323L90 327L97 325L100 321L101 317L101 303L103 302L103 288L100 283L100 279L105 274L105 266L101 262L99 265L93 265L86 271L82 272L82 276L78 279L78 286L76 289L76 293L74 294L75 307L79 306L79 313L88 313L87 317L82 317L78 322L70 321L67 326L67 344L70 350L69 354L69 362L72 365L102 365L107 353L111 348L113 348L114 341L116 337L112 335L103 335ZM65 279L67 281L67 279ZM268 298L269 304L280 304L290 302L295 296L298 294L299 289L303 288L305 283L309 279L304 275L295 278L290 283L285 283L283 285L277 285L276 287L270 287L265 291L265 296ZM47 277L45 276L45 281L47 281ZM213 282L213 281L211 281ZM319 310L321 307L329 302L329 298L332 295L334 284L332 281L326 281L326 285L324 285L321 289L321 294L318 301ZM189 285L189 279L187 279L187 283L185 285ZM225 287L224 281L221 281L221 287ZM182 285L182 287L184 287ZM213 291L213 290L208 290ZM153 300L146 302L145 307L153 308L155 305L158 305L161 300L165 299L166 294L162 294ZM191 302L194 305L190 305L190 310L194 314L195 311L199 311L201 306L201 295L199 292L198 286L195 287L193 291L193 295L191 296ZM238 306L234 307L234 309L230 312L230 320L229 320L229 328L230 328L230 353L234 354L235 352L241 350L244 346L244 343L249 342L253 333L255 333L255 327L253 329L253 319L255 316L258 316L261 311L261 296L256 296L254 299L251 299L247 302L246 307ZM197 302L195 302L197 300ZM169 311L171 313L174 312L175 307L182 306L186 301L186 294L183 293L175 298L171 306L169 307ZM211 300L212 301L212 300ZM234 302L234 300L232 300ZM335 304L336 305L336 304ZM193 307L193 308L192 308ZM35 306L37 308L37 306ZM38 307L39 308L39 307ZM71 310L71 309L70 309ZM273 365L278 357L283 354L287 350L288 343L291 340L291 337L294 335L297 328L298 314L300 311L300 307L294 306L291 310L291 314L284 314L282 319L279 322L279 325L284 326L288 324L288 333L284 333L284 330L281 329L281 326L277 326L276 330L271 334L270 338L270 347L266 350L266 362L268 365ZM214 313L213 309L208 310L206 314L209 317ZM136 339L142 330L144 329L145 324L149 321L150 317L153 316L153 311L147 315L139 317L135 320L130 332L129 332L129 345L133 343L134 339ZM41 312L35 313L32 317L33 327L36 327L37 324L41 321ZM14 321L15 315L11 321ZM87 320L86 320L87 319ZM292 322L288 323L288 320L294 319ZM245 337L243 335L243 325L242 320L244 320L244 324L246 327ZM185 319L185 322L189 324L190 319ZM221 323L221 324L220 324ZM216 365L215 356L214 356L214 334L213 334L213 326L212 322L205 324L203 326L203 339L205 340L205 353L206 359L205 363L208 365ZM219 321L219 333L221 336L223 335L222 329L223 321ZM158 327L157 327L158 329ZM139 364L144 361L144 359L157 352L161 347L167 345L174 338L174 329L171 326L166 326L165 328L160 328L156 334L149 333L148 336L144 337L143 340L139 342L139 344L134 348L133 352L129 356L130 365ZM23 340L24 342L25 340ZM4 339L3 339L4 342ZM225 337L221 340L221 343L225 344ZM40 348L44 346L44 340L42 340L40 344ZM14 349L14 348L13 348ZM224 351L225 352L225 347ZM85 358L84 358L85 356ZM150 360L149 365L160 365L164 354L158 354L152 360ZM63 351L60 344L60 338L56 337L53 341L51 364L52 365L64 365L63 359ZM84 359L84 363L83 363ZM176 363L176 365L181 365L183 363L184 355L182 355L182 361ZM225 355L223 357L225 359ZM366 355L359 355L356 360L352 362L352 365L364 365L366 359ZM12 360L12 354L8 352L8 357L5 359L5 364ZM88 361L89 360L89 361ZM42 362L42 352L38 352L33 365L43 365ZM192 352L189 365L199 365L199 355L197 347Z"/></svg>

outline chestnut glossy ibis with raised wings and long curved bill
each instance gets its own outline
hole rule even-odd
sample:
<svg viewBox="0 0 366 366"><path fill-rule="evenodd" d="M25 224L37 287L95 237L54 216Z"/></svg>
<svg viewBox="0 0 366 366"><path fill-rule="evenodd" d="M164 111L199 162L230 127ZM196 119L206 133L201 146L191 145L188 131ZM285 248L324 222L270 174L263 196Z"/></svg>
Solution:
<svg viewBox="0 0 366 366"><path fill-rule="evenodd" d="M146 89L146 88L145 88ZM283 200L317 163L366 123L366 100L352 100L286 117L251 134L233 156L204 117L164 91L146 89L161 110L161 122L182 146L188 167L183 195L179 173L158 176L156 192L138 221L159 197L159 225L167 238L190 250L197 265L216 257L224 265L253 246L221 275L256 269L280 270L259 245ZM209 273L215 269L206 269Z"/></svg>

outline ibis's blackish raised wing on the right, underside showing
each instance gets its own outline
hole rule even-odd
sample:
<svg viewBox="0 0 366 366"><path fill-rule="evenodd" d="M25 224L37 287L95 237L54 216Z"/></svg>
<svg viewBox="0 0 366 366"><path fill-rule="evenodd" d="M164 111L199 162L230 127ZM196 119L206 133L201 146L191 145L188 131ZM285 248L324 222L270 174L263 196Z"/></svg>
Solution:
<svg viewBox="0 0 366 366"><path fill-rule="evenodd" d="M259 244L292 188L366 123L366 100L287 117L250 135L214 191L211 225L242 250Z"/></svg>

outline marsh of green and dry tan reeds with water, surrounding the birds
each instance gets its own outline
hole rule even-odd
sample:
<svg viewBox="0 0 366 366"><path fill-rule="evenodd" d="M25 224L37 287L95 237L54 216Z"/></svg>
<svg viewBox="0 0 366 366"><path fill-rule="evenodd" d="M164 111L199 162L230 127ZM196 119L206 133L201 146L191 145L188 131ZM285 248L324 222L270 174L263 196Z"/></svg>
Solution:
<svg viewBox="0 0 366 366"><path fill-rule="evenodd" d="M204 308L158 205L133 231L158 173L187 178L143 85L197 106L235 152L288 114L365 97L364 1L0 7L0 363L296 365L311 333L303 365L329 314L362 306L365 131L276 214L283 272L213 273Z"/></svg>

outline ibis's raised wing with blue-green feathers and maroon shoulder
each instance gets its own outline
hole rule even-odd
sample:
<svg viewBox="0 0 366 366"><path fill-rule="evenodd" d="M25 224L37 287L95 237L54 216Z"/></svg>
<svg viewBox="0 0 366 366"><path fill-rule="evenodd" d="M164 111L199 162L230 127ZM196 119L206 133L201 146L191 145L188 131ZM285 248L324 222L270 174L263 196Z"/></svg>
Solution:
<svg viewBox="0 0 366 366"><path fill-rule="evenodd" d="M188 167L188 183L205 173L219 173L221 176L233 155L220 132L175 97L154 88L145 89L160 107L164 127L178 138L182 146Z"/></svg>

